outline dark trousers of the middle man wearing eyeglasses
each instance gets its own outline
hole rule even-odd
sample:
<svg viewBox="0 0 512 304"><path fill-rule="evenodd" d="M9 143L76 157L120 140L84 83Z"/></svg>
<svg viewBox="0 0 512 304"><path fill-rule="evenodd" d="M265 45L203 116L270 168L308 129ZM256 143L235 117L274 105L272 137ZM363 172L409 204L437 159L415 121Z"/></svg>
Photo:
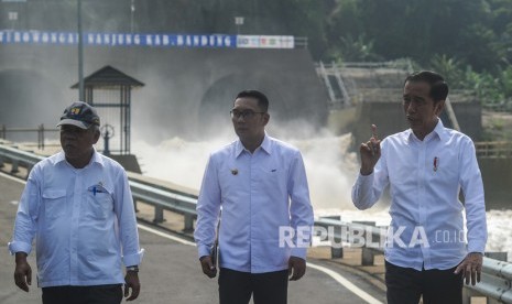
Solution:
<svg viewBox="0 0 512 304"><path fill-rule="evenodd" d="M288 271L249 273L221 268L220 304L246 304L253 295L254 304L286 304Z"/></svg>

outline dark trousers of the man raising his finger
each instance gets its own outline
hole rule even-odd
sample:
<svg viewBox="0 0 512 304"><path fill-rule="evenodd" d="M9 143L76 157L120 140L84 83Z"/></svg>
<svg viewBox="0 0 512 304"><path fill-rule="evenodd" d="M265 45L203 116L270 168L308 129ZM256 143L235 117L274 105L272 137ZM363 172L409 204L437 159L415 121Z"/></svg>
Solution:
<svg viewBox="0 0 512 304"><path fill-rule="evenodd" d="M462 274L447 270L402 268L385 262L388 304L461 304Z"/></svg>

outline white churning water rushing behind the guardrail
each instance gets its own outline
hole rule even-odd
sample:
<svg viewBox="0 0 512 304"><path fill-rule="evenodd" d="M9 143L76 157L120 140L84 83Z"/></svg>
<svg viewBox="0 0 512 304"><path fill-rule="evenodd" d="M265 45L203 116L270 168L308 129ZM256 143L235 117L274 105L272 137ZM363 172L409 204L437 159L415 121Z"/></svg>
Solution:
<svg viewBox="0 0 512 304"><path fill-rule="evenodd" d="M226 133L209 141L185 141L173 138L156 146L142 139L132 142L143 174L190 188L199 188L208 155L231 142ZM350 199L350 188L358 171L356 153L349 153L350 134L328 132L308 140L286 140L297 146L304 158L315 216L339 215L345 221L370 220L388 226L388 204L379 202L370 210L358 210ZM512 210L487 213L489 240L487 251L506 251L512 257ZM510 259L510 258L509 258Z"/></svg>

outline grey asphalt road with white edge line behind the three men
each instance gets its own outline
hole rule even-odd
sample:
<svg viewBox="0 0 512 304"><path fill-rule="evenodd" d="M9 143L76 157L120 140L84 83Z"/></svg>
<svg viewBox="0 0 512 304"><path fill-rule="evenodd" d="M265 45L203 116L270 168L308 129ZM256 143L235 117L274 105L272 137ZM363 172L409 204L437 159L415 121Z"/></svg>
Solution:
<svg viewBox="0 0 512 304"><path fill-rule="evenodd" d="M7 249L22 189L21 181L0 173L0 303L2 304L41 303L41 290L36 286L35 273L29 293L14 285L12 279L14 259ZM186 245L186 241L182 242L178 236L145 224L140 224L140 239L146 252L140 271L142 291L135 303L218 303L217 280L210 280L201 273L194 246ZM30 256L30 262L35 272L33 253ZM288 303L385 302L384 294L357 272L345 271L334 263L314 259L309 259L308 263L311 267L306 275L301 281L290 283Z"/></svg>

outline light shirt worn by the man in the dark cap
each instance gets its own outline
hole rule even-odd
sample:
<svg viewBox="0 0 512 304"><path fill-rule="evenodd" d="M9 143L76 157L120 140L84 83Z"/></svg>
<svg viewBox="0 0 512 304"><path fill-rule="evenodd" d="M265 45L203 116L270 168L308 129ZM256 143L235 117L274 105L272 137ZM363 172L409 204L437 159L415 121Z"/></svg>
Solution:
<svg viewBox="0 0 512 304"><path fill-rule="evenodd" d="M122 166L96 151L84 169L73 167L64 152L39 162L9 250L30 253L34 237L39 286L124 283L121 260L138 265L142 250Z"/></svg>

